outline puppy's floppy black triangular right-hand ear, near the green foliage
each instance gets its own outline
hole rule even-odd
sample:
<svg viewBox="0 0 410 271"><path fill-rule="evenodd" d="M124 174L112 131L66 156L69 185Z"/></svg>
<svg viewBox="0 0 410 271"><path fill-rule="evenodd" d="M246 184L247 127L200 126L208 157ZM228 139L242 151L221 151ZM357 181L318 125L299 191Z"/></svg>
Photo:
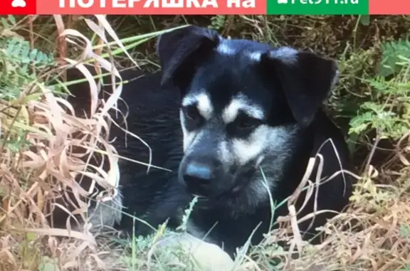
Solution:
<svg viewBox="0 0 410 271"><path fill-rule="evenodd" d="M330 94L338 78L334 60L293 48L277 48L265 53L261 63L275 73L296 121L308 125Z"/></svg>

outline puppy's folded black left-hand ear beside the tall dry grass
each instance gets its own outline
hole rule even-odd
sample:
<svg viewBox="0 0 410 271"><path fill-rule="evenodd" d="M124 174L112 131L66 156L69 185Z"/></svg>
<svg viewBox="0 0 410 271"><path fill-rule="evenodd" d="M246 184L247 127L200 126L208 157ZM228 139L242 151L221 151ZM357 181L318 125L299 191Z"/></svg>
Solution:
<svg viewBox="0 0 410 271"><path fill-rule="evenodd" d="M216 31L199 26L186 26L159 36L157 55L162 68L162 84L186 83L194 68L219 44Z"/></svg>

